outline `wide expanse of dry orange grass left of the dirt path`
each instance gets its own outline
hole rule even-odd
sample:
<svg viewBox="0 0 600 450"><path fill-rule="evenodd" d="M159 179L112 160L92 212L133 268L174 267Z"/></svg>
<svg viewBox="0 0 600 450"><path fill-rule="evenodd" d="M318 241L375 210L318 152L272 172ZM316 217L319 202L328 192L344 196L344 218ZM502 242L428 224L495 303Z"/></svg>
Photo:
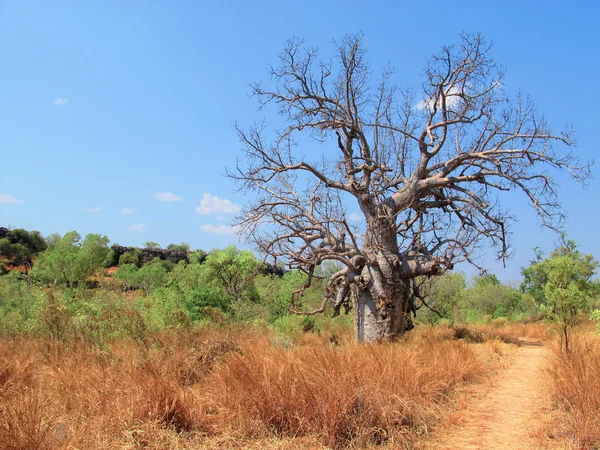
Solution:
<svg viewBox="0 0 600 450"><path fill-rule="evenodd" d="M0 442L9 449L408 447L439 421L457 385L490 369L476 345L435 333L388 345L338 342L305 335L284 349L244 329L164 335L149 351L133 342L108 351L0 341Z"/></svg>

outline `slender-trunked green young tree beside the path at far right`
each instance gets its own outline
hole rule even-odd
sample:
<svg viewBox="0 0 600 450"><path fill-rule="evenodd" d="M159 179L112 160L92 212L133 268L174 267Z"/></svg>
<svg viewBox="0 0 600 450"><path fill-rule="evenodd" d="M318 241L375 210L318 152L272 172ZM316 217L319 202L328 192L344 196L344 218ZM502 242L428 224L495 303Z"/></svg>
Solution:
<svg viewBox="0 0 600 450"><path fill-rule="evenodd" d="M523 270L529 277L525 289L534 290L541 301L540 311L549 323L558 327L561 348L568 352L571 329L596 293L591 278L598 262L591 254L581 253L573 241L565 241L548 258L542 259L539 254L537 260Z"/></svg>

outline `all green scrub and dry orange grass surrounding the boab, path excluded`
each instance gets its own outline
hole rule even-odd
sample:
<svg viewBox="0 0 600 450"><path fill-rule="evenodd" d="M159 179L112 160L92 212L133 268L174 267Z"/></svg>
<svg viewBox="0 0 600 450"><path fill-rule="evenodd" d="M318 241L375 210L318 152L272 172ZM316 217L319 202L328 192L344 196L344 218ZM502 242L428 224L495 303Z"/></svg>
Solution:
<svg viewBox="0 0 600 450"><path fill-rule="evenodd" d="M182 243L185 260L144 263L143 249L116 258L107 238L73 232L22 244L23 260L0 241L3 448L410 448L519 338L556 339L549 376L567 440L600 443L600 341L571 331L597 302L595 262L574 246L550 256L566 284L541 254L519 288L461 273L424 282L430 308L416 328L364 345L351 316L291 315L305 276L248 251ZM319 305L323 288L306 289L302 306Z"/></svg>

